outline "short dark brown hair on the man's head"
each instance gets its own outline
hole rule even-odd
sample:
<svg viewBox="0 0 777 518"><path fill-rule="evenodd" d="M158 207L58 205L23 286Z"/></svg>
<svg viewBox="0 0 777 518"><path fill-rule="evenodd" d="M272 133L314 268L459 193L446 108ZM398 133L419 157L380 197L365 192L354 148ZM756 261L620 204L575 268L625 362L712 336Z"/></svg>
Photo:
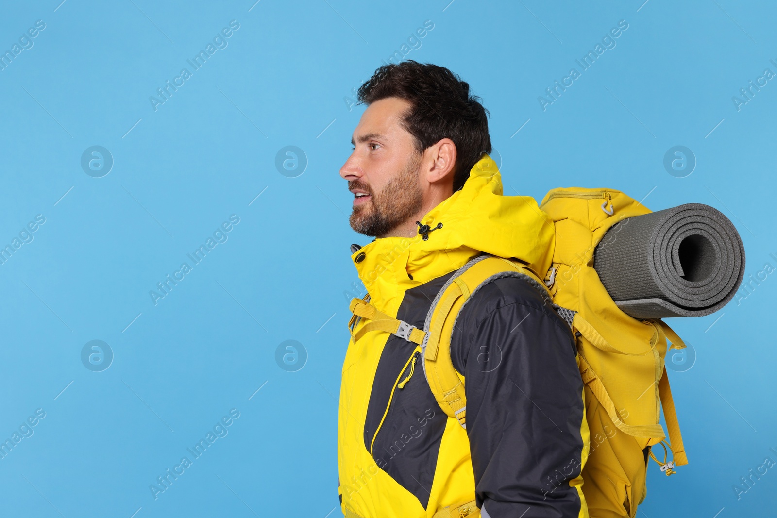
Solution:
<svg viewBox="0 0 777 518"><path fill-rule="evenodd" d="M483 153L491 152L489 113L480 98L469 95L469 85L448 68L413 60L384 64L357 92L358 104L387 97L413 104L402 122L420 153L443 138L456 144L453 190L461 189Z"/></svg>

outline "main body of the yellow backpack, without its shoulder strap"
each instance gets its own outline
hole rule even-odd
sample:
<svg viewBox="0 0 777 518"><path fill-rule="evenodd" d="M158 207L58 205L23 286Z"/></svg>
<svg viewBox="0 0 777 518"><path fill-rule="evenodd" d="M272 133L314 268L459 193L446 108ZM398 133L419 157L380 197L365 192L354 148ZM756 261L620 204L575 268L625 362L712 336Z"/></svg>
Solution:
<svg viewBox="0 0 777 518"><path fill-rule="evenodd" d="M593 264L596 246L617 238L620 226L605 237L613 225L650 210L605 189L553 189L540 208L556 227L550 294L562 308L576 311L572 326L591 432L583 470L589 513L617 510L636 516L646 495L647 454L667 476L675 466L688 464L664 368L667 339L670 349L683 349L685 343L660 319L638 320L621 311ZM668 443L659 424L662 407ZM664 447L664 461L648 449L658 443ZM667 461L667 448L673 461Z"/></svg>

